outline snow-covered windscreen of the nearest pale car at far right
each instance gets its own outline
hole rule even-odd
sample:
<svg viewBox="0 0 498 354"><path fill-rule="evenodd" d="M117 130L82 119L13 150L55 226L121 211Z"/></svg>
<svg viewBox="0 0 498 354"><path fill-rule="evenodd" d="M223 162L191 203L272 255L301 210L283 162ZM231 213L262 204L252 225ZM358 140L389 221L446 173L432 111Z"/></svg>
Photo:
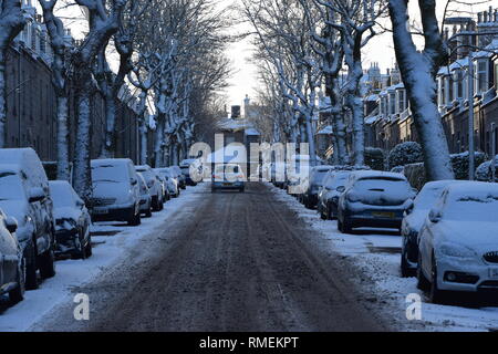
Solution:
<svg viewBox="0 0 498 354"><path fill-rule="evenodd" d="M498 195L466 196L448 200L443 210L444 220L496 222Z"/></svg>

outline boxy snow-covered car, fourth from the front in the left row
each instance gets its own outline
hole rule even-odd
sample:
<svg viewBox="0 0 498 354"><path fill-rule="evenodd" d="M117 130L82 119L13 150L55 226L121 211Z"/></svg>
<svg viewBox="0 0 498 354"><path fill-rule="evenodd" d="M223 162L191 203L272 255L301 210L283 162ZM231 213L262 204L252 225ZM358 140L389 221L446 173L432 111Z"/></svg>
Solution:
<svg viewBox="0 0 498 354"><path fill-rule="evenodd" d="M133 162L128 158L94 159L91 166L92 220L141 225L141 191Z"/></svg>

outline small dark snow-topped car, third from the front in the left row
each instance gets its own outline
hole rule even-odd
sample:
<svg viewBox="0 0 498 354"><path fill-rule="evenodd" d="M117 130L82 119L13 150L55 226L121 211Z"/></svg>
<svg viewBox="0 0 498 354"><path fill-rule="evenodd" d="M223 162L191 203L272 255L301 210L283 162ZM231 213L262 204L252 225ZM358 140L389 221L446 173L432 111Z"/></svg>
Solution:
<svg viewBox="0 0 498 354"><path fill-rule="evenodd" d="M55 218L55 254L85 259L92 256L91 218L85 202L65 180L49 183Z"/></svg>

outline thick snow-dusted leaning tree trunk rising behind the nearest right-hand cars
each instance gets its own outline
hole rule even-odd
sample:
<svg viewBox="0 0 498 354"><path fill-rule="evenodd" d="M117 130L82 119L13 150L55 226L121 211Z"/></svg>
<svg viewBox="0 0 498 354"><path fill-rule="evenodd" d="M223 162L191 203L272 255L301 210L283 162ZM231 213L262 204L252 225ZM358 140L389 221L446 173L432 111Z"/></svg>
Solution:
<svg viewBox="0 0 498 354"><path fill-rule="evenodd" d="M419 0L424 29L437 28L437 19L434 13L434 1ZM432 4L432 6L430 6ZM422 10L422 9L421 9ZM427 12L428 11L428 12ZM393 23L393 39L396 59L406 93L409 98L413 119L417 129L421 145L424 150L425 170L428 180L454 179L454 171L449 158L448 143L443 128L440 114L437 107L437 85L435 75L439 63L437 55L443 46L434 31L430 38L426 38L426 49L418 52L407 30L407 0L390 0L390 15ZM430 23L428 23L430 21Z"/></svg>

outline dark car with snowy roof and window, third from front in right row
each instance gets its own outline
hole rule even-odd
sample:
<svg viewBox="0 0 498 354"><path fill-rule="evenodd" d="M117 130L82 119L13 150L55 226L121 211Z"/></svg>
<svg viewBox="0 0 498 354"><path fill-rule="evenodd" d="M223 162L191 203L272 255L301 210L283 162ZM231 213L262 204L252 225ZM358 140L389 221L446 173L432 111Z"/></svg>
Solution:
<svg viewBox="0 0 498 354"><path fill-rule="evenodd" d="M416 196L404 175L376 170L351 173L339 191L344 191L338 208L338 229L343 233L361 227L401 229Z"/></svg>

